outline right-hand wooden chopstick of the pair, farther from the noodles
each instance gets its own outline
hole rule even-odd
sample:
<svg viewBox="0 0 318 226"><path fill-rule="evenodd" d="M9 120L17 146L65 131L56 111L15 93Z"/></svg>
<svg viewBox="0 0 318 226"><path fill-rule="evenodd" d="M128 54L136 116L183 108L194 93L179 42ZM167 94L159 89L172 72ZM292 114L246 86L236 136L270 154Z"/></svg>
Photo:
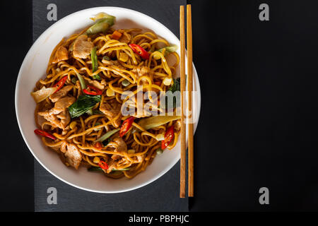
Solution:
<svg viewBox="0 0 318 226"><path fill-rule="evenodd" d="M192 13L191 4L187 5L187 87L188 87L188 196L194 196L194 150L193 150L193 117L192 114Z"/></svg>

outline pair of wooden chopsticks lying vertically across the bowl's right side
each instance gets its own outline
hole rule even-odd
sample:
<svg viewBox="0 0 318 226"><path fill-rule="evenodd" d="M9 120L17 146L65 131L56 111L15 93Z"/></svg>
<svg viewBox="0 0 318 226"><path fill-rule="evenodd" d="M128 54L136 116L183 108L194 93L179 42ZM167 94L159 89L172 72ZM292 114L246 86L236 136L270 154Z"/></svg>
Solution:
<svg viewBox="0 0 318 226"><path fill-rule="evenodd" d="M185 197L186 183L186 122L185 122L185 37L184 37L184 6L180 6L180 91L181 91L181 160L180 160L180 198ZM187 110L192 112L192 16L191 5L187 5ZM192 114L192 113L191 113ZM192 115L188 115L192 117ZM187 121L188 126L188 196L194 196L194 151L193 151L193 123Z"/></svg>

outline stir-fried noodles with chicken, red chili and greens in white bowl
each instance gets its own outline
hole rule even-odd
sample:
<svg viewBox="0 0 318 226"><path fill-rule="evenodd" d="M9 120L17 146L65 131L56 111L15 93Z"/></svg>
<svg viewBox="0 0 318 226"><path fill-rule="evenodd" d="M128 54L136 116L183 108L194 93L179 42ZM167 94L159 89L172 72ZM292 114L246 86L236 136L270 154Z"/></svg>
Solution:
<svg viewBox="0 0 318 226"><path fill-rule="evenodd" d="M93 20L53 49L46 76L31 93L35 131L68 167L132 178L177 143L180 117L149 112L167 111L159 100L177 83L179 56L153 32L115 30L105 13ZM137 101L138 94L148 98ZM150 110L124 114L139 106Z"/></svg>

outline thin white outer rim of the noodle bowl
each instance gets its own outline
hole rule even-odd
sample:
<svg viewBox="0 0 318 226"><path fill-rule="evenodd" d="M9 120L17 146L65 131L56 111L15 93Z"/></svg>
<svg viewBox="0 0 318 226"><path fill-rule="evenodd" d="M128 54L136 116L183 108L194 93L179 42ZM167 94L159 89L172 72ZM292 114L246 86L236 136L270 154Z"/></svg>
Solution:
<svg viewBox="0 0 318 226"><path fill-rule="evenodd" d="M30 57L30 54L33 52L33 49L35 49L35 46L37 45L37 42L39 42L39 40L41 39L41 37L47 35L47 33L49 32L49 30L51 30L52 28L56 27L58 25L58 23L63 23L63 20L66 20L67 18L71 17L71 16L74 16L76 14L80 14L80 13L83 13L85 11L92 11L92 10L101 10L101 11L105 11L107 9L114 9L114 10L119 10L119 11L129 11L130 13L134 13L136 14L137 16L140 15L140 16L143 16L143 17L146 17L150 20L155 20L156 23L159 23L162 28L164 28L167 32L169 32L172 36L174 36L177 40L179 40L177 38L177 36L172 32L170 31L165 25L163 25L163 23L160 23L158 20L156 20L155 18L152 18L151 16L148 16L144 13L141 13L139 11L135 11L133 9L130 9L130 8L122 8L122 7L117 7L117 6L99 6L99 7L93 7L93 8L85 8L81 11L76 11L76 12L73 12L67 16L64 16L63 18L57 20L54 24L50 25L49 28L47 28L44 32L42 32L42 34L37 37L37 39L35 40L35 42L33 42L32 46L30 47L30 49L28 50L28 53L25 55L25 58L23 59L23 62L20 66L20 70L18 72L18 78L16 80L16 88L15 88L15 109L16 109L16 119L18 121L18 127L19 127L19 130L20 130L20 133L23 137L23 140L25 142L25 144L28 146L28 149L30 151L30 153L32 153L33 157L35 157L35 159L37 160L37 162L40 163L40 165L42 165L42 167L44 167L47 172L49 172L50 174L52 174L54 177L56 177L57 179L61 180L62 182L66 183L66 184L69 184L70 186L73 186L73 187L76 187L77 189L82 189L84 191L90 191L90 192L95 192L95 193L100 193L100 194L117 194L117 193L122 193L122 192L126 192L126 191L133 191L133 190L136 190L136 189L139 189L143 186L146 186L148 184L151 184L152 182L154 182L155 180L159 179L160 177L162 177L165 173L167 173L170 169L172 169L172 167L175 166L175 164L177 164L177 162L179 161L180 157L177 157L174 161L170 162L170 165L168 165L163 171L161 171L159 174L156 174L154 177L151 177L150 179L147 179L145 182L141 183L141 184L137 184L136 186L131 186L129 189L116 189L116 190L109 190L109 191L102 191L102 190L94 190L94 189L88 189L86 187L83 187L83 186L78 186L76 184L73 184L71 182L68 182L66 179L63 179L61 177L59 177L57 174L55 174L54 172L52 172L51 169L49 169L49 167L47 167L36 155L35 153L33 152L33 149L30 148L30 144L28 142L28 140L25 138L25 133L23 133L23 130L22 130L22 126L21 126L21 122L20 122L20 118L19 118L19 114L18 112L20 112L20 109L18 107L18 93L19 93L19 87L20 87L20 80L21 80L21 77L22 77L22 72L23 72L23 68L26 64L26 61L27 59ZM186 57L186 61L187 61L187 57ZM192 64L192 67L193 67L193 71L196 72L196 69L195 69L195 66L194 64ZM197 73L196 73L196 76L197 76ZM200 117L200 112L201 112L201 87L200 87L200 83L199 83L199 76L197 76L198 79L196 79L196 82L197 82L197 87L199 88L199 90L196 90L198 91L198 94L197 94L197 97L198 97L198 102L197 102L197 106L199 109L197 109L197 121L196 123L194 124L194 133L196 131L196 127L198 125L198 122L199 122L199 117Z"/></svg>

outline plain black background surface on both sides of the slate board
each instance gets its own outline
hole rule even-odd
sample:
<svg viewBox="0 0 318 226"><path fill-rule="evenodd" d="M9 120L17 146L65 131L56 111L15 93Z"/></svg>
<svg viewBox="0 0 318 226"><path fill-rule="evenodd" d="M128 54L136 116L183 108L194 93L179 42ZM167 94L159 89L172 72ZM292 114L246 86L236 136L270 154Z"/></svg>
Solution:
<svg viewBox="0 0 318 226"><path fill-rule="evenodd" d="M259 20L261 3L269 21ZM192 2L202 103L190 210L318 210L317 8L300 0ZM33 156L14 112L32 4L1 1L1 11L0 210L33 210ZM267 206L258 201L262 186Z"/></svg>

